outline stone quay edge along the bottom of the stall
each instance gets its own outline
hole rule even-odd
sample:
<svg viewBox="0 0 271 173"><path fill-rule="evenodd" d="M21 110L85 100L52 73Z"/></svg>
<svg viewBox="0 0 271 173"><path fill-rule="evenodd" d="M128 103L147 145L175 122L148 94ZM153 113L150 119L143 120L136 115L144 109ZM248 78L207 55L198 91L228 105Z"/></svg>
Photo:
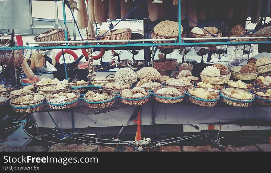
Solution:
<svg viewBox="0 0 271 173"><path fill-rule="evenodd" d="M70 152L70 151L86 151L86 152L132 152L134 151L133 147L128 146L99 146L99 145L87 145L87 144L72 144L72 145L62 145L62 144L55 144L52 145L50 148L45 148L43 146L19 146L19 147L12 147L12 146L2 146L0 145L0 152L6 151L22 151L22 152ZM270 144L256 144L256 145L248 145L242 147L235 147L235 146L227 146L224 150L220 150L218 148L214 148L211 145L206 146L167 146L167 147L160 147L158 149L160 152L271 152L271 145Z"/></svg>

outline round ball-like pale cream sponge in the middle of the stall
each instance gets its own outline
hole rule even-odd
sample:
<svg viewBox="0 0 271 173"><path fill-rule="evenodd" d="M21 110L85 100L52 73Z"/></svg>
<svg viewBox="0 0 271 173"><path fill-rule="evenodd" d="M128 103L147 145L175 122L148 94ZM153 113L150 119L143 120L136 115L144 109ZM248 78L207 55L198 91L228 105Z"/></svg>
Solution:
<svg viewBox="0 0 271 173"><path fill-rule="evenodd" d="M131 68L121 68L115 73L115 82L121 85L133 84L136 81L136 72L134 72Z"/></svg>

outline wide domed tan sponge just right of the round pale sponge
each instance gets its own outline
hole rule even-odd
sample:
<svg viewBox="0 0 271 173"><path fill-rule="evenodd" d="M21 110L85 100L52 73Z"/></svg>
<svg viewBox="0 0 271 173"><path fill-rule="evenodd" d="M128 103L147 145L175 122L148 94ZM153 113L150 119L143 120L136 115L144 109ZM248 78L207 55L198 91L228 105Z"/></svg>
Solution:
<svg viewBox="0 0 271 173"><path fill-rule="evenodd" d="M156 81L161 77L160 73L153 67L143 67L136 74L139 79L151 81Z"/></svg>

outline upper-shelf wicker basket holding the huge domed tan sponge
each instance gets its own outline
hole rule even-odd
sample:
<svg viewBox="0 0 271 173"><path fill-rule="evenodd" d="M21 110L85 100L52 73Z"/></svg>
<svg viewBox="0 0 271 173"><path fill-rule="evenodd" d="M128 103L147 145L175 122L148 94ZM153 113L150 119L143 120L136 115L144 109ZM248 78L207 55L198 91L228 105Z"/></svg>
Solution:
<svg viewBox="0 0 271 173"><path fill-rule="evenodd" d="M186 33L181 35L181 38L185 38L186 37ZM161 36L159 34L156 34L154 32L151 31L151 39L167 39L167 38L176 38L177 39L177 43L179 42L179 36L177 37L168 37L168 36ZM183 42L183 41L181 41ZM175 43L175 41L152 41L153 44L169 44L169 43ZM179 48L180 45L174 45L174 46L167 46L167 45L163 45L163 46L158 46L159 49L177 49Z"/></svg>

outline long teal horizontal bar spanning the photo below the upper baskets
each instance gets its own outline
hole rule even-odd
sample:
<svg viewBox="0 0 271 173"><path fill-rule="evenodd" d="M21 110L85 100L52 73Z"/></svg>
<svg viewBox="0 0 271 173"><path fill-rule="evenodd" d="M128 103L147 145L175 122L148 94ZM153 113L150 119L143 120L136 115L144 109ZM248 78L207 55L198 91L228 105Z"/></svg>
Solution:
<svg viewBox="0 0 271 173"><path fill-rule="evenodd" d="M85 45L85 46L13 46L13 47L0 47L1 50L16 50L16 49L86 49L86 48L114 48L114 47L137 47L137 46L193 46L193 45L208 45L208 44L225 44L225 45L238 45L238 44L261 44L271 43L271 41L239 41L239 42L202 42L202 43L165 43L165 44L153 44L153 43L133 43L133 44L118 44L118 45Z"/></svg>

